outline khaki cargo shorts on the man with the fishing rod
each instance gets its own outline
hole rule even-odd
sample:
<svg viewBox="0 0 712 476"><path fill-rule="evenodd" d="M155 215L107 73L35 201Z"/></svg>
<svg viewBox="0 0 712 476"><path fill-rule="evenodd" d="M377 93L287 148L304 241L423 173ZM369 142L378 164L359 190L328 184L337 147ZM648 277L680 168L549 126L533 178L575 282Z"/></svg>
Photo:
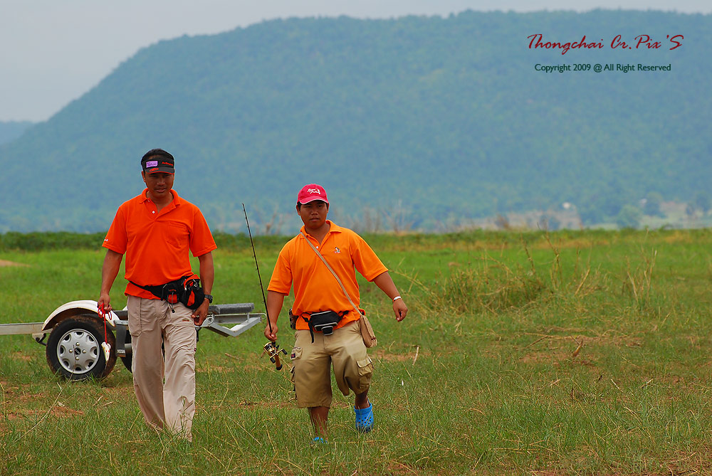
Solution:
<svg viewBox="0 0 712 476"><path fill-rule="evenodd" d="M308 330L296 331L291 359L299 408L331 406L331 366L344 395L349 394L349 389L363 393L371 385L373 364L366 353L358 321L335 329L329 336L315 332L313 344Z"/></svg>

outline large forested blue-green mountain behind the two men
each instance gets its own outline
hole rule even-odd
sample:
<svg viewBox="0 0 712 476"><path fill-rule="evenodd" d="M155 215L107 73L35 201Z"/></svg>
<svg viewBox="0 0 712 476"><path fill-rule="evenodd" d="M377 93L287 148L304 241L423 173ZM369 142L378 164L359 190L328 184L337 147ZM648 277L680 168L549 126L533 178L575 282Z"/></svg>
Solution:
<svg viewBox="0 0 712 476"><path fill-rule="evenodd" d="M535 34L601 47L530 48ZM633 47L612 48L617 35ZM661 47L634 48L639 35ZM423 229L564 201L595 223L646 194L688 200L712 177L711 44L710 15L601 10L293 18L162 41L0 146L0 231L108 228L153 147L229 231L244 230L242 202L258 226L295 216L310 182L344 220L382 211Z"/></svg>

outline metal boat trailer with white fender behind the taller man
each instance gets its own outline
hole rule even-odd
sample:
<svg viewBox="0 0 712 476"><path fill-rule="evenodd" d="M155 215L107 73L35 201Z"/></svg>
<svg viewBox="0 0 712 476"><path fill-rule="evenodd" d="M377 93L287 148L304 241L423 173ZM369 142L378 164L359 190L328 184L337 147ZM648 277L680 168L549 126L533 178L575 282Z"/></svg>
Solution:
<svg viewBox="0 0 712 476"><path fill-rule="evenodd" d="M252 312L252 302L211 305L203 324L196 331L207 329L224 337L238 337L261 322L266 314ZM103 319L98 314L98 303L93 300L67 302L54 310L44 322L0 324L0 336L32 334L38 344L47 347L50 368L70 380L103 379L112 370L117 357L131 369L131 342L127 310L105 314L107 330L116 333L107 340L115 340L110 358L105 359ZM48 342L44 342L48 337Z"/></svg>

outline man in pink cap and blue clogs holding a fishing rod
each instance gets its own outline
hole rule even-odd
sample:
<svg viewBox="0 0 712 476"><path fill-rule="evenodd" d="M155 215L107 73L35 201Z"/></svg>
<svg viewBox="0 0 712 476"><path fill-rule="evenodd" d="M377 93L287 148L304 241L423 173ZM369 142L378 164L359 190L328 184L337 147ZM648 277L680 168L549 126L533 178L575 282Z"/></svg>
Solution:
<svg viewBox="0 0 712 476"><path fill-rule="evenodd" d="M291 359L297 405L309 409L316 433L314 442L323 443L332 401L331 366L339 390L344 395L352 390L356 395L356 429L365 433L374 423L368 399L373 364L361 336L360 314L355 310L360 305L355 269L393 301L397 321L404 319L408 308L387 268L365 240L326 219L329 201L322 186L305 185L297 196L296 208L304 226L298 236L284 245L277 258L267 288L271 328L265 327L265 336L272 342L277 340L279 312L293 285L291 311L296 317L296 331ZM323 256L339 277L348 296L316 253ZM360 308L359 311L363 312ZM322 324L322 332L315 323Z"/></svg>

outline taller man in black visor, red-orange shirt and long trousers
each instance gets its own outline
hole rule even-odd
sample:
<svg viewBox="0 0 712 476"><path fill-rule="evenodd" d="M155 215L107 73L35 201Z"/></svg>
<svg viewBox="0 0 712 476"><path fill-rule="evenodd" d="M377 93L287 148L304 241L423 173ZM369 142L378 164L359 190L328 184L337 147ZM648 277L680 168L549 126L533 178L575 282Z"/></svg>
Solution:
<svg viewBox="0 0 712 476"><path fill-rule="evenodd" d="M98 305L111 310L109 291L125 253L129 282L124 294L128 297L137 401L149 425L192 440L195 326L202 324L212 302L211 252L217 247L198 207L173 190L173 156L163 149L152 149L142 157L141 166L146 189L119 207L104 239L107 251ZM203 302L192 305L197 306L195 310L153 294L160 294L169 282L193 275L189 251L199 260L206 295Z"/></svg>

